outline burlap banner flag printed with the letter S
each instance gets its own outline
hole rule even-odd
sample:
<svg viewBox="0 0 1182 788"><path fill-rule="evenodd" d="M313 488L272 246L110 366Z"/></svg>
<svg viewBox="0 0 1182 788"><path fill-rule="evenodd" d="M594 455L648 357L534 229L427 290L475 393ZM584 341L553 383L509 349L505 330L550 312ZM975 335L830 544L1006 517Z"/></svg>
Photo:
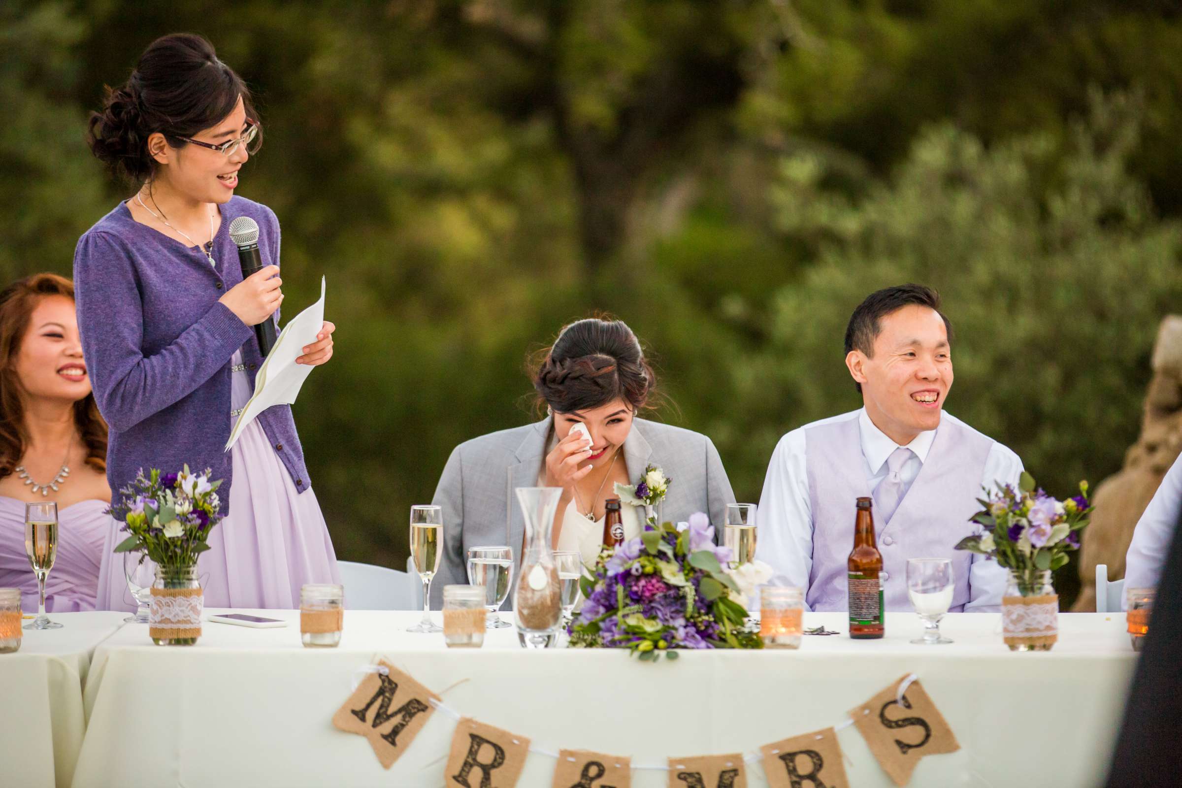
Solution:
<svg viewBox="0 0 1182 788"><path fill-rule="evenodd" d="M850 710L858 732L896 786L907 784L923 756L960 749L953 729L917 679L900 696L900 685L908 679L913 677L900 678Z"/></svg>

